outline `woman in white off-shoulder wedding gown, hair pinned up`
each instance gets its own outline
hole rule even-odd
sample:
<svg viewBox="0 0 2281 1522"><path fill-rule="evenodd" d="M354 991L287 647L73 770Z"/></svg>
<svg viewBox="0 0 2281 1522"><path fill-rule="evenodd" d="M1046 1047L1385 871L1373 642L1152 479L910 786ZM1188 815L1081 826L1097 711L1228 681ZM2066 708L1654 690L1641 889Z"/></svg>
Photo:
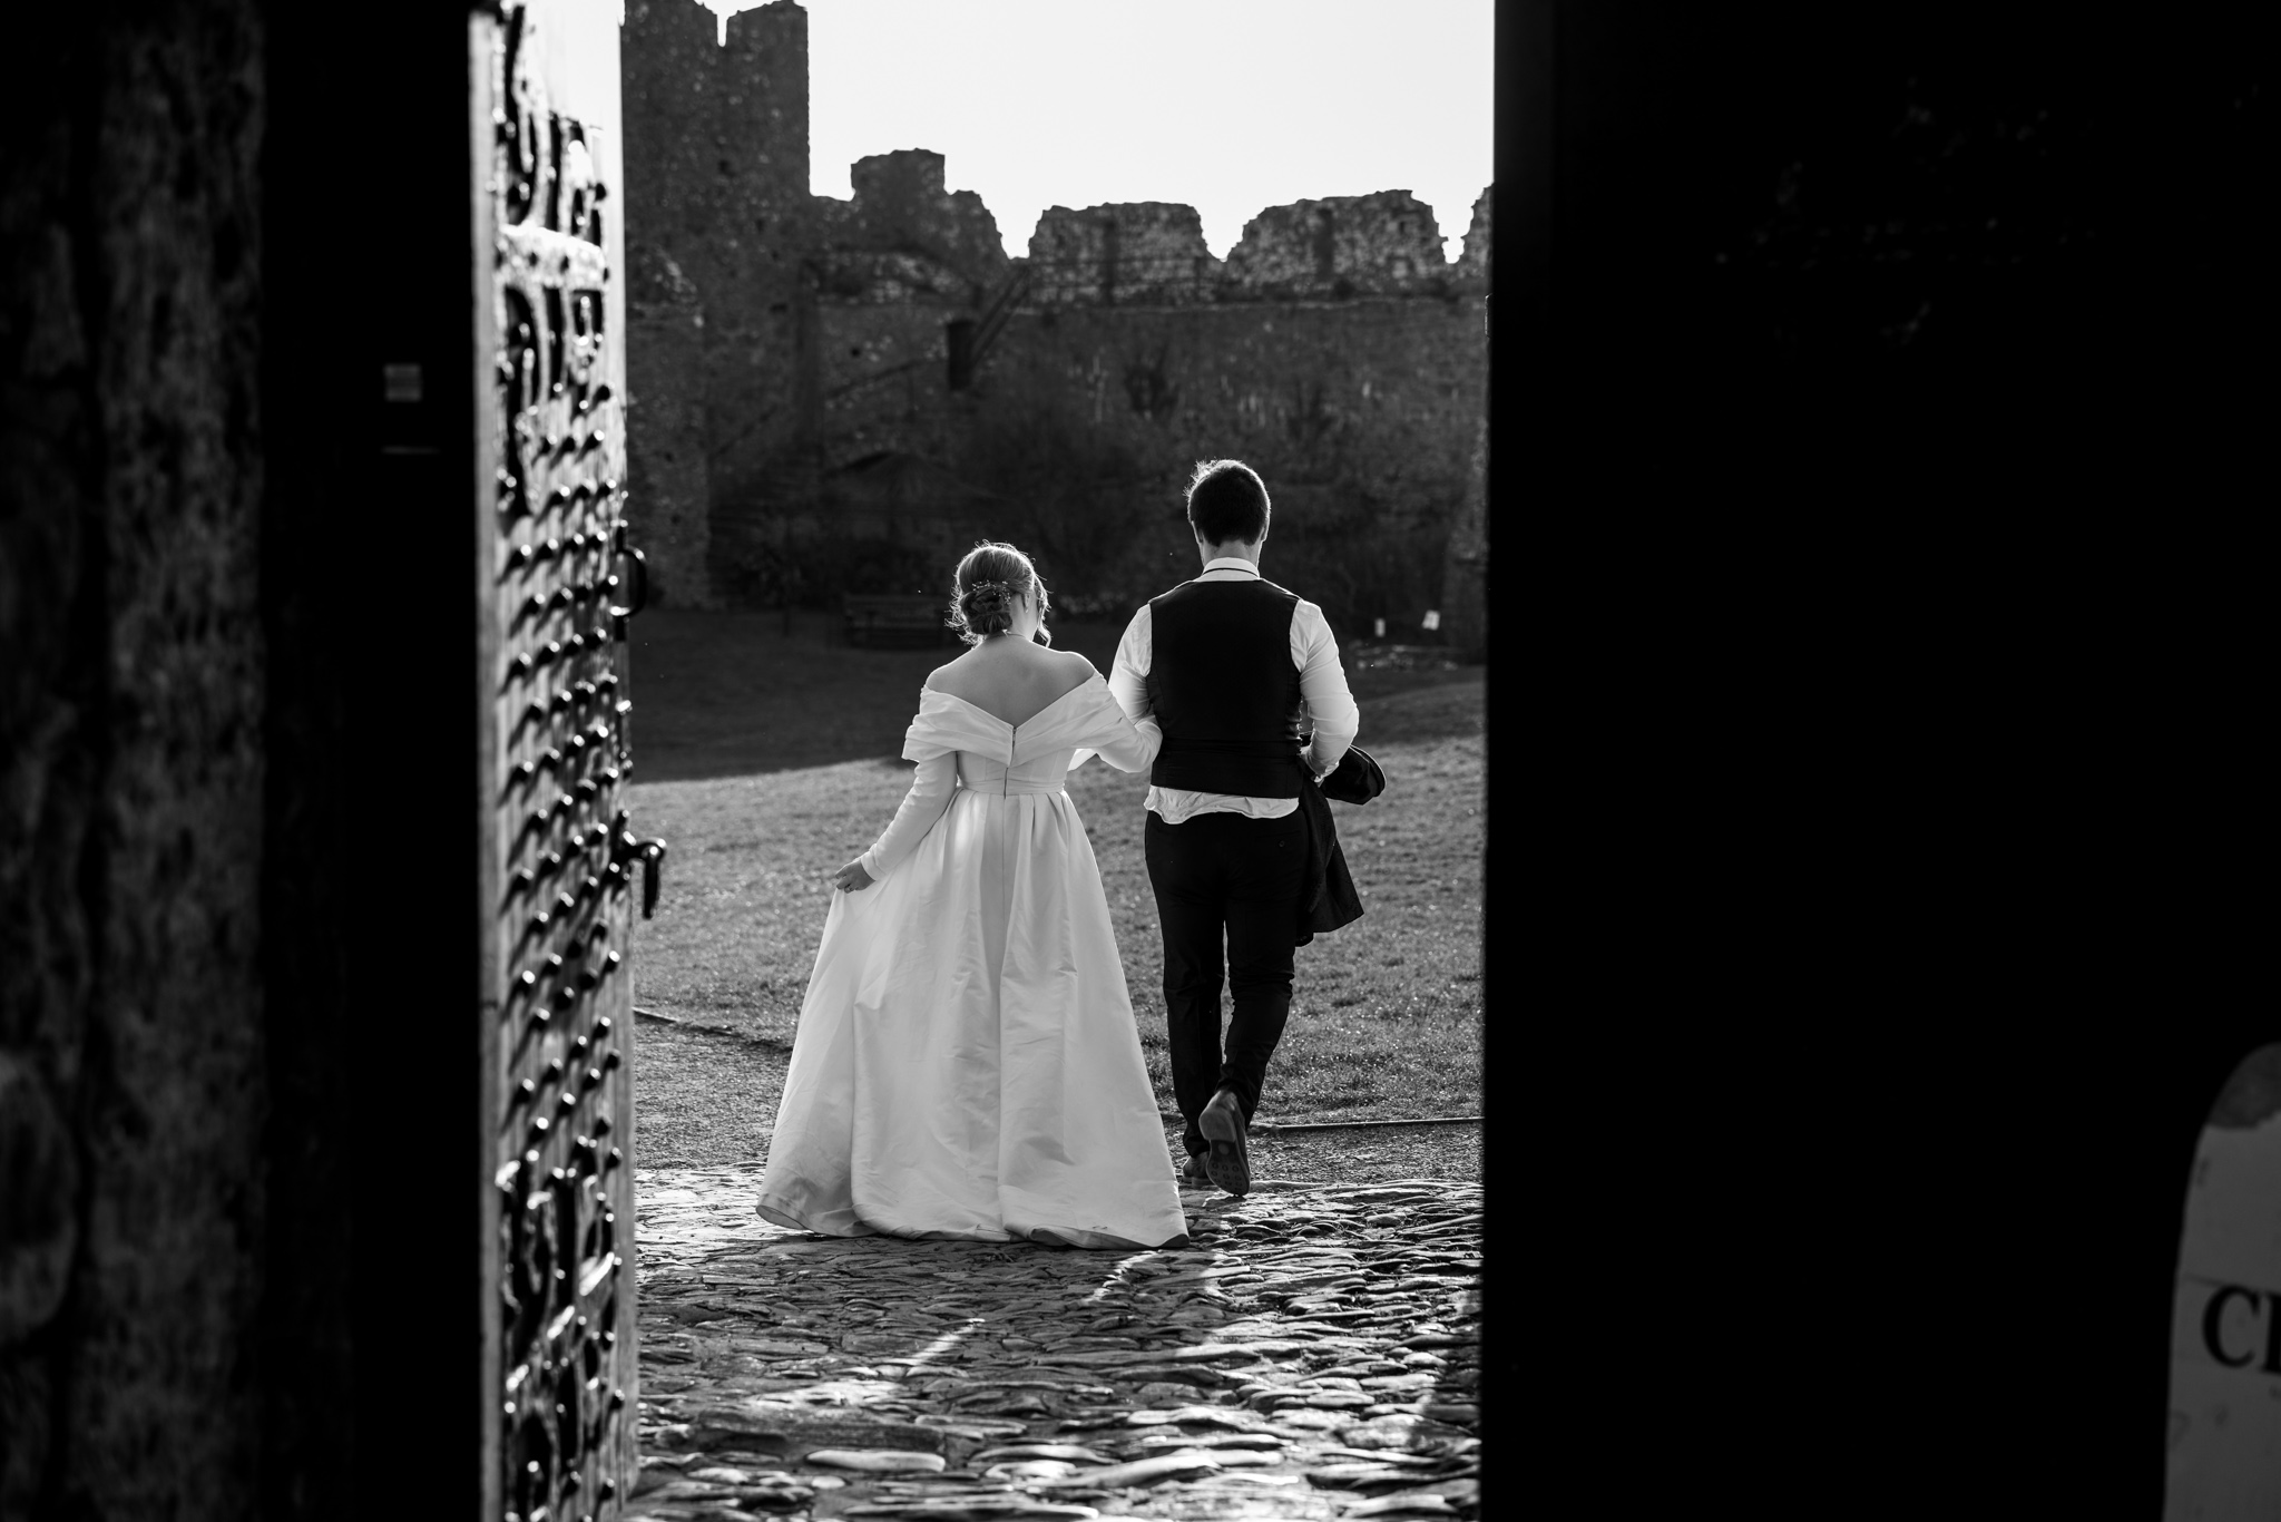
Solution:
<svg viewBox="0 0 2281 1522"><path fill-rule="evenodd" d="M1161 744L1083 655L1052 650L1036 566L956 575L972 646L926 678L910 794L837 874L760 1214L835 1237L1186 1239L1109 899L1063 778Z"/></svg>

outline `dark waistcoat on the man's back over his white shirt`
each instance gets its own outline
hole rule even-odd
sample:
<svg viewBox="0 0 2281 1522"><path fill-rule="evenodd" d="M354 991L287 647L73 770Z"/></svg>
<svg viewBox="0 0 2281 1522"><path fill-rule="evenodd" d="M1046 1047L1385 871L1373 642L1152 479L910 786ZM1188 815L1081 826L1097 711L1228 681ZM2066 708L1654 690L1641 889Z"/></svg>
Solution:
<svg viewBox="0 0 2281 1522"><path fill-rule="evenodd" d="M1298 596L1250 577L1188 582L1150 602L1147 696L1163 728L1150 783L1239 799L1298 796L1296 609Z"/></svg>

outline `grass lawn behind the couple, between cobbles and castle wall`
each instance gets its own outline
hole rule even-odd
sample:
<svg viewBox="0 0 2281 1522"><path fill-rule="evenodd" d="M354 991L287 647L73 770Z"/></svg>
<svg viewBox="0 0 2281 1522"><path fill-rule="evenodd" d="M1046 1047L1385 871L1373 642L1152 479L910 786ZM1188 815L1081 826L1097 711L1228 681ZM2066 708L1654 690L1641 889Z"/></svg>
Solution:
<svg viewBox="0 0 2281 1522"><path fill-rule="evenodd" d="M664 609L636 628L659 618ZM675 614L634 650L643 726L634 826L671 847L657 917L636 926L634 1002L748 1038L641 1025L636 1093L650 1166L762 1155L830 904L828 874L892 817L910 769L887 758L926 671L953 655L846 650L821 643L814 628L794 639L780 628L773 614ZM1056 641L1106 669L1118 632L1079 625L1056 630ZM1259 1118L1480 1114L1480 673L1359 669L1353 685L1362 744L1387 771L1378 801L1332 805L1366 913L1300 947L1291 1025ZM1140 858L1145 792L1145 778L1102 762L1070 778L1159 1107L1172 1109L1156 906ZM1271 1145L1298 1139L1261 1143L1261 1166L1275 1168ZM1439 1145L1385 1132L1307 1143L1428 1175L1446 1173ZM1453 1145L1471 1152L1471 1139Z"/></svg>

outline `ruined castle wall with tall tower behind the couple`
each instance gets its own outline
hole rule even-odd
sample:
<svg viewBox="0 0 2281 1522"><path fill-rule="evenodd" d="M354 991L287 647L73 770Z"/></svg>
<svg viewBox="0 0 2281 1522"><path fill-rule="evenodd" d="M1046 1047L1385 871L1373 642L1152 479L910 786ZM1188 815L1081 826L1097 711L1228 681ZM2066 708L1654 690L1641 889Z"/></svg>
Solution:
<svg viewBox="0 0 2281 1522"><path fill-rule="evenodd" d="M1195 208L1056 205L1008 260L926 148L807 196L805 14L728 37L627 7L630 518L666 602L935 591L997 536L1063 607L1129 607L1186 575L1179 484L1225 454L1344 632L1480 600L1487 194L1455 265L1405 189L1266 208L1225 262Z"/></svg>

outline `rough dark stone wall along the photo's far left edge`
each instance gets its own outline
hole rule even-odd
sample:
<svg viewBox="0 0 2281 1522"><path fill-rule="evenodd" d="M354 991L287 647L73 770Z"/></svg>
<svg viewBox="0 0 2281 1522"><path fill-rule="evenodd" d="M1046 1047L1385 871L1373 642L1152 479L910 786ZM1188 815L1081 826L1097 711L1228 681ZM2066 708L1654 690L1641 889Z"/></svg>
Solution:
<svg viewBox="0 0 2281 1522"><path fill-rule="evenodd" d="M249 0L21 21L0 91L0 1517L242 1517L262 25Z"/></svg>

